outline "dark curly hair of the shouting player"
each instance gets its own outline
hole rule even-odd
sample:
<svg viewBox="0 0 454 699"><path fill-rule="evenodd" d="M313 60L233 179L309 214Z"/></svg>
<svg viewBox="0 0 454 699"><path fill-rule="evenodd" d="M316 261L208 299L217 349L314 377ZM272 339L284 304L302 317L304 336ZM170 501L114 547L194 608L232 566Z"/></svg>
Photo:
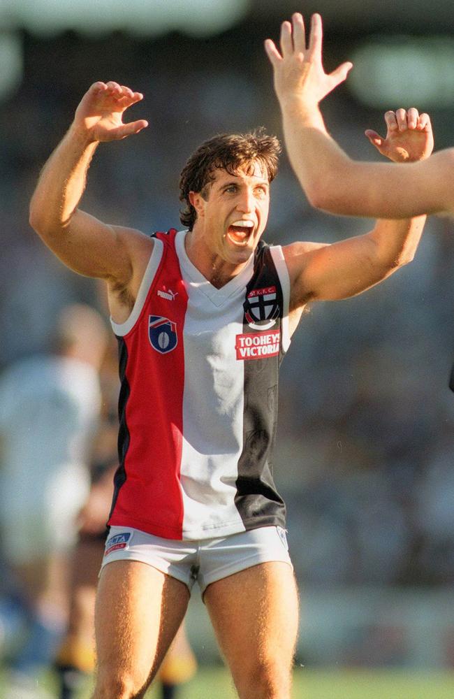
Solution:
<svg viewBox="0 0 454 699"><path fill-rule="evenodd" d="M277 175L281 146L276 136L268 136L264 129L249 134L218 134L205 140L186 162L180 175L180 201L186 207L180 211L180 221L189 231L196 222L197 212L189 201L189 192L207 196L207 187L214 180L214 170L222 169L235 175L244 165L258 161L268 173L271 182ZM204 191L205 190L205 191Z"/></svg>

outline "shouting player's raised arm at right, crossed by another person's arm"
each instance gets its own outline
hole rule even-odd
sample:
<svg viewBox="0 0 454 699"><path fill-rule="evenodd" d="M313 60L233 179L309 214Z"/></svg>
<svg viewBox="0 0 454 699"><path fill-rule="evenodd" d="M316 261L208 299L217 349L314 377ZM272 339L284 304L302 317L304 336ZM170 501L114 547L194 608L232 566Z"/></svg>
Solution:
<svg viewBox="0 0 454 699"><path fill-rule="evenodd" d="M424 131L416 124L423 120ZM374 131L368 136L381 153L394 161L415 161L432 152L432 127L428 115L417 110L387 112L386 138ZM407 171L409 165L404 166ZM307 301L354 296L381 282L413 259L423 232L425 215L411 219L380 219L362 236L333 245L294 243L284 248L290 274L293 309Z"/></svg>

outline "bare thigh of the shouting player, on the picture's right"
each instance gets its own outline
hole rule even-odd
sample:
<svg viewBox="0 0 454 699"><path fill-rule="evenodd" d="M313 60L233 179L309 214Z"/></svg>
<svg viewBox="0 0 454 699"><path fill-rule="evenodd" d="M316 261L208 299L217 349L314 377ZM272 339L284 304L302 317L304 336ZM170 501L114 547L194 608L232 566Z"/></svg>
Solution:
<svg viewBox="0 0 454 699"><path fill-rule="evenodd" d="M204 599L240 698L289 699L298 633L291 566L254 565L209 585Z"/></svg>

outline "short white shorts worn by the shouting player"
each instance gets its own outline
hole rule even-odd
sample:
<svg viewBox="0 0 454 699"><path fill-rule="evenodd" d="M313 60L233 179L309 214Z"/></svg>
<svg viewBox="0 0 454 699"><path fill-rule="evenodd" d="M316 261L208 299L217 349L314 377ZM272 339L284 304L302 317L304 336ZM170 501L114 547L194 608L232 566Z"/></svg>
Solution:
<svg viewBox="0 0 454 699"><path fill-rule="evenodd" d="M257 563L283 561L293 568L286 533L279 526L196 541L163 539L139 529L112 526L101 570L112 561L142 561L184 582L189 590L197 581L202 594L212 582Z"/></svg>

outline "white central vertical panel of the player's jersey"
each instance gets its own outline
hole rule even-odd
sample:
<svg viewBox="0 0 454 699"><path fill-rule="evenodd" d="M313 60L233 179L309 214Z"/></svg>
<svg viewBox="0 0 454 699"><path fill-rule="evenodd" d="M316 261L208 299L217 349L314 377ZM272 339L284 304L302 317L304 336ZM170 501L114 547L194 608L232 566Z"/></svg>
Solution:
<svg viewBox="0 0 454 699"><path fill-rule="evenodd" d="M236 359L235 338L242 333L244 287L254 260L215 289L189 261L184 235L178 233L175 242L189 295L184 324L183 538L197 539L211 532L221 536L244 531L235 507L244 410L244 362Z"/></svg>

